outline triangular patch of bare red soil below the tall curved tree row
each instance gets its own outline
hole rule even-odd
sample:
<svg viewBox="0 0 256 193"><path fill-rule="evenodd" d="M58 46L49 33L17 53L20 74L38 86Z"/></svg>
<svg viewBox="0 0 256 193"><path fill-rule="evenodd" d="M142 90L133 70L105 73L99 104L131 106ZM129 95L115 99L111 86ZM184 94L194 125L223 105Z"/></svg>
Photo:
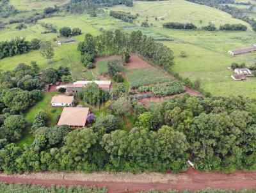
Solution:
<svg viewBox="0 0 256 193"><path fill-rule="evenodd" d="M140 69L140 68L152 68L150 64L147 63L147 61L141 59L138 54L133 53L130 55L129 62L125 65L128 69Z"/></svg>

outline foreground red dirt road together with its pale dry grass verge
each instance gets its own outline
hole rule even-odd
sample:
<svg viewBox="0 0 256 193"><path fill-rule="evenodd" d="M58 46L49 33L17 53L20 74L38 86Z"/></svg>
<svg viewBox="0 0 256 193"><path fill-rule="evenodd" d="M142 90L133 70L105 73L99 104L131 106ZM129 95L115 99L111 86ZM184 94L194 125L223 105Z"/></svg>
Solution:
<svg viewBox="0 0 256 193"><path fill-rule="evenodd" d="M90 178L90 176L92 178ZM122 178L120 178L120 176ZM144 179L142 179L144 178ZM256 172L237 171L232 174L201 173L189 169L177 176L159 173L33 173L22 175L0 174L6 183L33 183L47 187L55 185L95 185L107 187L108 192L138 192L141 190L199 190L199 189L253 189L256 188Z"/></svg>

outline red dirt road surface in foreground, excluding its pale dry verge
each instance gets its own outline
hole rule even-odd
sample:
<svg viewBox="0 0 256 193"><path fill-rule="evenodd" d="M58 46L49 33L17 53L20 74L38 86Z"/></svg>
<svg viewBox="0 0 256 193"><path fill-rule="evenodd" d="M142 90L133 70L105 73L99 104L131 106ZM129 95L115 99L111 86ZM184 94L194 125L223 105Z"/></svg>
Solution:
<svg viewBox="0 0 256 193"><path fill-rule="evenodd" d="M5 183L32 183L45 185L47 187L54 185L90 185L97 187L106 187L108 192L138 192L141 190L156 189L156 190L200 190L200 189L255 189L256 188L256 172L243 172L237 171L231 174L223 173L201 173L195 169L189 169L185 173L177 176L172 174L166 174L172 176L172 180L154 181L145 183L137 183L134 181L83 181L83 179L77 180L66 180L63 176L63 180L54 179L40 179L40 178L29 178L29 174L26 178L17 175L1 175L0 181Z"/></svg>

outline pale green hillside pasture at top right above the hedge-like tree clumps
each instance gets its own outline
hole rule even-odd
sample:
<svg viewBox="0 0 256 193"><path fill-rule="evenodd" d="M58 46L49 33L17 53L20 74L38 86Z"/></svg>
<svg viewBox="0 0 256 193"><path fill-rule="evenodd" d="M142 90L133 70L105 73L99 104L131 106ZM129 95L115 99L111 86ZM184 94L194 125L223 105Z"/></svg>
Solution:
<svg viewBox="0 0 256 193"><path fill-rule="evenodd" d="M140 16L136 24L148 19L149 23L160 27L164 22L193 22L196 26L207 26L210 23L220 26L221 24L242 23L246 22L233 19L231 15L221 12L215 8L203 6L195 3L189 3L185 0L172 1L134 1L133 7L114 6L111 10L120 10L123 12L138 13ZM155 20L157 17L157 21ZM201 22L200 22L201 20Z"/></svg>

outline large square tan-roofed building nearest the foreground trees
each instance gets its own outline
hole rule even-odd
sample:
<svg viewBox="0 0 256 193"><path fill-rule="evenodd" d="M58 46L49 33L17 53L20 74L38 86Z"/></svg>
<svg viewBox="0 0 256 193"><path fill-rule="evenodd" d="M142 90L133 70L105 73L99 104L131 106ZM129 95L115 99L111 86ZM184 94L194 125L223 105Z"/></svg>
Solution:
<svg viewBox="0 0 256 193"><path fill-rule="evenodd" d="M89 108L64 107L58 125L68 125L70 128L81 128L85 126Z"/></svg>

